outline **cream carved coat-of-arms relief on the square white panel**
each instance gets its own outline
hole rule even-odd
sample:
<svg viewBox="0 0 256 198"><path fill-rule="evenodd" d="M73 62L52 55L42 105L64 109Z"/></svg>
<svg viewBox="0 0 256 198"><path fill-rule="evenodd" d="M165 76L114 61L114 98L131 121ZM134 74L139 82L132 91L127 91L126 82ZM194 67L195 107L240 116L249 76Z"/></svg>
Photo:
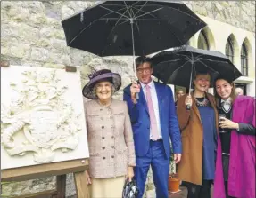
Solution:
<svg viewBox="0 0 256 198"><path fill-rule="evenodd" d="M84 115L82 108L76 111L72 99L66 99L68 82L63 83L57 69L25 70L20 76L15 82L4 82L11 99L4 103L1 98L1 153L4 150L15 158L32 154L36 164L54 162L57 152L73 154Z"/></svg>

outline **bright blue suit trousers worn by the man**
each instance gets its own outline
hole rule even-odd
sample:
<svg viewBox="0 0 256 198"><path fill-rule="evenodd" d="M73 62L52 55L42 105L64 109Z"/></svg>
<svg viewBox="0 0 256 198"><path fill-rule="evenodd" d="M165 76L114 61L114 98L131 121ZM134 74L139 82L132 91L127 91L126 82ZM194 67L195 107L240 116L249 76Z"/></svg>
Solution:
<svg viewBox="0 0 256 198"><path fill-rule="evenodd" d="M145 156L136 156L135 178L139 188L137 198L142 198L149 167L153 171L153 183L157 198L168 198L169 158L166 157L162 140L150 140Z"/></svg>

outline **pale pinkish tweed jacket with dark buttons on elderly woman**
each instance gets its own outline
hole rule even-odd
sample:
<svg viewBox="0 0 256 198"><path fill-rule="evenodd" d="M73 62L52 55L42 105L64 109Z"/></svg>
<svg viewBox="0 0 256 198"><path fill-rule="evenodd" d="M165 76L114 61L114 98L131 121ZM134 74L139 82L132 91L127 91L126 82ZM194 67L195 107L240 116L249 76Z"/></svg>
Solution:
<svg viewBox="0 0 256 198"><path fill-rule="evenodd" d="M124 176L136 166L133 133L126 102L112 99L108 107L96 99L85 103L92 178Z"/></svg>

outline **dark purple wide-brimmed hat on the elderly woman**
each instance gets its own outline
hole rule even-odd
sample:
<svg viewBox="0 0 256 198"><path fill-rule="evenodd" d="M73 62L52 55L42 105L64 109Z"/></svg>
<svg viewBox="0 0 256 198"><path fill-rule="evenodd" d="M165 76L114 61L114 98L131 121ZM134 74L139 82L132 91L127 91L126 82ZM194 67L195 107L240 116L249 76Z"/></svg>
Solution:
<svg viewBox="0 0 256 198"><path fill-rule="evenodd" d="M95 73L88 75L90 81L83 88L83 95L88 99L96 99L94 87L96 83L108 81L113 84L114 91L118 91L121 86L121 76L117 73L112 73L109 69L101 69Z"/></svg>

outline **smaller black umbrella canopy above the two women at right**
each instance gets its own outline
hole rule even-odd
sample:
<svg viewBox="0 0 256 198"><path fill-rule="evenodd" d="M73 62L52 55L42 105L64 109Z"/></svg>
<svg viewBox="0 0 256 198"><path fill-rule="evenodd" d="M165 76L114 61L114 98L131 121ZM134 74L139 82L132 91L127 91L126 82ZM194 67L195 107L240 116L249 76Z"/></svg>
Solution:
<svg viewBox="0 0 256 198"><path fill-rule="evenodd" d="M154 76L163 83L186 88L191 87L192 76L196 72L208 72L211 79L216 75L224 75L231 81L242 76L223 53L200 50L188 45L174 51L161 51L153 56L152 61Z"/></svg>

